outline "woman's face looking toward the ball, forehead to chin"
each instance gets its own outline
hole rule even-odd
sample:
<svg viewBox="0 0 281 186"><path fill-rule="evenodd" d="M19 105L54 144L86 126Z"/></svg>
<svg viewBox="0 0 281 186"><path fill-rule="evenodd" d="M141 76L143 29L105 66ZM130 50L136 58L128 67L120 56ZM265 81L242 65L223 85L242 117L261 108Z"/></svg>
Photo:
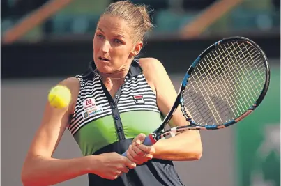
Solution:
<svg viewBox="0 0 281 186"><path fill-rule="evenodd" d="M109 15L100 17L93 38L93 60L100 72L113 73L130 66L135 48L127 22Z"/></svg>

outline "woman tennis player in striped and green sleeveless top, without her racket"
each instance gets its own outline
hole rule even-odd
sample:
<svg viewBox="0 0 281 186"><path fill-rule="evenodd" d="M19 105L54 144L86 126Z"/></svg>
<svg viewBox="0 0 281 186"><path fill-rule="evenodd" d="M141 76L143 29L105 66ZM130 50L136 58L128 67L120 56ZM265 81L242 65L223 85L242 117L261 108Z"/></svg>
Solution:
<svg viewBox="0 0 281 186"><path fill-rule="evenodd" d="M183 185L172 161L199 160L199 132L183 132L153 146L142 144L176 98L160 61L137 58L151 28L146 7L128 1L111 3L101 15L89 69L59 82L70 88L69 106L45 106L22 169L25 186L54 185L84 174L92 186ZM181 111L170 125L186 125ZM66 128L82 157L52 157Z"/></svg>

